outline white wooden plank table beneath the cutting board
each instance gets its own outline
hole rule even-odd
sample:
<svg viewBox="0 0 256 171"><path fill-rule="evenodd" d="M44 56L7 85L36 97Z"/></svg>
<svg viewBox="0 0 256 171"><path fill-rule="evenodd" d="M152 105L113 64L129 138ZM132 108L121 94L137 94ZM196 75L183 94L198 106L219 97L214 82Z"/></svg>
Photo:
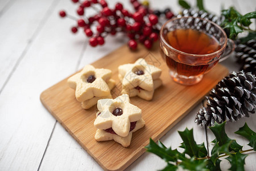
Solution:
<svg viewBox="0 0 256 171"><path fill-rule="evenodd" d="M113 6L115 2L108 3ZM131 9L128 1L122 3ZM176 0L152 1L151 5L155 9L170 6L175 12L180 10ZM206 9L217 14L221 6L234 6L245 14L256 10L256 1L205 1ZM75 15L75 7L69 0L0 1L0 170L101 170L39 100L44 89L127 42L119 34L109 36L102 47L88 46L82 30L71 34L75 21L58 15L61 9ZM230 71L238 71L233 56L222 64ZM176 148L182 142L177 131L188 127L194 129L197 143L206 144L205 129L194 123L200 107L194 108L160 140ZM245 149L249 149L247 140L233 132L245 121L256 131L255 119L256 114L226 125L228 135ZM207 139L213 140L210 131ZM255 161L256 153L250 154L246 158L246 170L255 170ZM157 170L164 166L159 157L146 152L127 170ZM229 167L226 162L222 169Z"/></svg>

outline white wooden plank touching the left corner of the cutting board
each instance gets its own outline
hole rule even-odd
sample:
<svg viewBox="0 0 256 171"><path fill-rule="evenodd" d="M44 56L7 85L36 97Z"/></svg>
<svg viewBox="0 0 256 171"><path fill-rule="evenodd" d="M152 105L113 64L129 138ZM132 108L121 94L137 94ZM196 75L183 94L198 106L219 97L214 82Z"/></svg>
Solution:
<svg viewBox="0 0 256 171"><path fill-rule="evenodd" d="M38 169L55 124L54 117L40 103L39 95L75 71L84 39L83 35L74 38L70 34L71 21L60 20L58 11L63 6L68 9L71 2L63 1L54 11L48 11L50 18L0 95L2 170Z"/></svg>

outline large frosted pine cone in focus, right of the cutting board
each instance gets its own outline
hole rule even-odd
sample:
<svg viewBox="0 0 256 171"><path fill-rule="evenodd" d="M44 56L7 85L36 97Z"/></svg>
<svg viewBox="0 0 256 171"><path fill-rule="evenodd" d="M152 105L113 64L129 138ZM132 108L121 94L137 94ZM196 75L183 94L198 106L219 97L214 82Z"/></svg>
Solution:
<svg viewBox="0 0 256 171"><path fill-rule="evenodd" d="M208 103L196 115L201 126L213 126L215 121L237 121L256 111L256 78L250 72L232 72L206 96Z"/></svg>

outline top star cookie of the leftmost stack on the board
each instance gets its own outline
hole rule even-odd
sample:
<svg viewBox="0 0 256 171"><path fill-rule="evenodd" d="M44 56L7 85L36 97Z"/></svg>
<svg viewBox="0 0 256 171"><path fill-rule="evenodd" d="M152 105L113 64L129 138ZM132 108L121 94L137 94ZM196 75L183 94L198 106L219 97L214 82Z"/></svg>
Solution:
<svg viewBox="0 0 256 171"><path fill-rule="evenodd" d="M108 69L95 69L87 65L81 72L68 79L68 86L75 89L75 96L78 101L86 101L93 97L103 97L110 94L107 81L112 71Z"/></svg>

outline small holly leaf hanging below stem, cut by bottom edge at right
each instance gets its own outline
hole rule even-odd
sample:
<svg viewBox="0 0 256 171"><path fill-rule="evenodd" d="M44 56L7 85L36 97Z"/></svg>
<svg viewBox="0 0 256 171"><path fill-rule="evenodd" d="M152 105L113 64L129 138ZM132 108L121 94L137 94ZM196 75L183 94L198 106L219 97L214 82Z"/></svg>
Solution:
<svg viewBox="0 0 256 171"><path fill-rule="evenodd" d="M243 171L245 170L245 158L247 157L247 154L242 154L240 152L237 152L235 154L230 154L229 157L226 159L230 162L231 167L229 170L236 170L236 171Z"/></svg>

